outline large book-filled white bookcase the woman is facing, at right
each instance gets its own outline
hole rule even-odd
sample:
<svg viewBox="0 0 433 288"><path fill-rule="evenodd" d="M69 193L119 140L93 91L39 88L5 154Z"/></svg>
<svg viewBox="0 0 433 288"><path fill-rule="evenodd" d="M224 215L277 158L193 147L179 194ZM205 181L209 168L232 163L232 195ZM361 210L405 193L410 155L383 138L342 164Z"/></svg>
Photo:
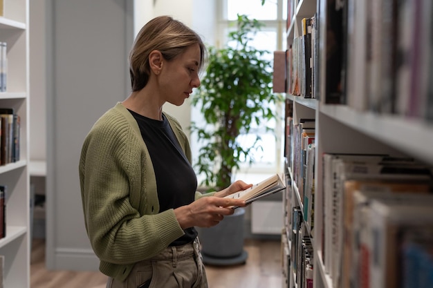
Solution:
<svg viewBox="0 0 433 288"><path fill-rule="evenodd" d="M372 261L389 263L386 262L388 260L379 258L380 253L374 247L388 237L389 231L377 227L374 230L374 225L378 225L383 219L388 221L392 218L395 221L393 223L397 223L396 227L400 229L397 225L404 222L403 215L407 218L405 213L414 209L407 208L407 202L416 202L419 209L414 211L425 209L419 212L419 215L426 220L405 223L405 227L423 225L417 229L423 229L423 233L428 232L424 233L428 235L423 235L423 240L430 244L423 243L427 246L421 245L421 248L431 249L433 242L432 217L430 212L427 212L433 211L433 84L430 83L433 69L433 4L430 0L288 0L287 15L284 135L287 189L284 194L282 231L282 287L422 287L408 285L407 282L412 280L405 278L410 274L407 272L409 265L404 264L407 260L405 257L414 255L411 254L410 245L407 245L408 248L402 246L406 249L404 252L401 252L403 248L396 252L396 255L401 257L397 263L403 263L402 267L389 270L389 275L397 279L397 282L401 280L397 284L387 282L388 272L383 271L388 267L378 265L375 270L368 265L371 265ZM425 75L430 75L430 79ZM395 191L392 190L392 193L385 197L385 191L374 186L378 183L373 181L374 177L370 174L361 177L356 174L359 171L348 172L349 165L346 164L352 163L352 160L335 160L332 163L336 166L332 166L333 173L329 174L330 158L326 155L338 155L340 158L345 157L341 155L362 155L362 160L356 158L356 161L359 160L364 165L356 166L358 169L396 164L387 163L388 160L384 160L387 157L393 161L407 160L410 162L409 169L413 169L412 165L415 163L416 167L421 167L425 172L425 186L421 189L427 195L407 196L418 189L414 183L419 184L424 180L419 178L410 182L414 175L407 176L398 172L398 176L378 176L375 179L380 180L377 182L387 183L386 192L396 187L403 192L402 195L394 194ZM371 164L366 160L368 157L380 158L380 164ZM401 167L400 162L396 165ZM353 164L351 167L354 166ZM342 194L330 195L329 192L335 190L329 190L328 175L338 177L338 180L333 180L331 184L334 188L341 184L342 186L335 190L341 189ZM416 177L418 176L423 177L416 173ZM401 178L396 180L396 177ZM349 194L352 193L347 192L349 185L358 180L370 182ZM389 184L390 182L393 184ZM405 186L408 183L412 184ZM394 184L396 186L392 186ZM384 193L371 194L377 192L368 191L372 190L373 186L380 190L380 193ZM371 198L362 198L367 197L366 195ZM402 203L405 201L406 203ZM373 202L376 204L371 204ZM355 204L351 207L348 203L362 203L368 210L355 207ZM376 210L379 212L375 215L380 216L371 220L370 214L373 214L371 211L375 211L374 209L382 210ZM358 211L360 214L352 215L348 211ZM332 222L334 220L328 222L329 213L337 213L335 216L331 215L331 218L337 219L337 224ZM362 275L367 282L351 282L348 285L348 278L353 276L350 271L350 264L353 262L347 265L348 262L344 261L350 253L352 260L355 256L352 255L353 252L347 253L346 245L353 241L355 233L364 231L355 231L360 226L356 226L354 222L353 227L349 226L347 230L344 221L357 216L357 220L362 222L360 215L374 223L367 224L366 227L370 227L368 231L378 231L380 237L374 238L377 242L368 240L372 244L367 248L373 248L367 251L370 253L367 262L363 262L367 263L367 268L362 267L367 269L362 270L367 271L367 274ZM387 222L388 225L389 223ZM419 236L415 235L415 232L411 234L411 230L398 231L404 231L403 240L409 239L409 242ZM413 231L419 232L415 229ZM329 242L337 243L337 249L326 246ZM401 243L406 244L404 241ZM354 250L353 242L351 245ZM430 269L427 273L432 275L432 253L423 250L421 255L428 259L423 263L427 263L426 269ZM363 256L357 257L361 259ZM424 280L428 285L432 285L433 280L429 279Z"/></svg>

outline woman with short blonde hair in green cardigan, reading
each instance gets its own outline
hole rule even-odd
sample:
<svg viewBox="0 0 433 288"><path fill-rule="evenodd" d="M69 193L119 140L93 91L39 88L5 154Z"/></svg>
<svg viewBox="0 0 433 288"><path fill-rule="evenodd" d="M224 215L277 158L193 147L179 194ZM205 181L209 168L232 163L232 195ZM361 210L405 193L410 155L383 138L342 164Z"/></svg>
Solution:
<svg viewBox="0 0 433 288"><path fill-rule="evenodd" d="M212 227L247 189L237 181L196 192L191 151L163 104L183 104L200 85L205 46L171 17L138 33L129 55L132 92L95 123L82 146L80 186L86 231L107 287L208 287L194 227ZM206 196L206 197L205 197Z"/></svg>

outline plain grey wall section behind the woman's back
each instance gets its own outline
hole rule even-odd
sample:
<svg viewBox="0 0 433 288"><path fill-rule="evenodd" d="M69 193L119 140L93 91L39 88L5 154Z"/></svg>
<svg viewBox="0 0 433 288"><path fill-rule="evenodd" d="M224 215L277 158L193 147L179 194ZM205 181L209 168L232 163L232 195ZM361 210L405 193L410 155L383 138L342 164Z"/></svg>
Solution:
<svg viewBox="0 0 433 288"><path fill-rule="evenodd" d="M46 0L46 12L46 265L96 270L78 162L91 126L129 95L132 6L129 0Z"/></svg>

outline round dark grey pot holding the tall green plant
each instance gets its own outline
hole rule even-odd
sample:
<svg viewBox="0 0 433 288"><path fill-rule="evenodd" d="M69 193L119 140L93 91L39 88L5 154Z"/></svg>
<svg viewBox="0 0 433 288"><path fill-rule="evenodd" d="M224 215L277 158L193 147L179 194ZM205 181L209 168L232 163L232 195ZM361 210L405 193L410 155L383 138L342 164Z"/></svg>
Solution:
<svg viewBox="0 0 433 288"><path fill-rule="evenodd" d="M248 253L243 250L244 215L245 209L237 208L216 226L197 229L205 264L237 265L246 262Z"/></svg>

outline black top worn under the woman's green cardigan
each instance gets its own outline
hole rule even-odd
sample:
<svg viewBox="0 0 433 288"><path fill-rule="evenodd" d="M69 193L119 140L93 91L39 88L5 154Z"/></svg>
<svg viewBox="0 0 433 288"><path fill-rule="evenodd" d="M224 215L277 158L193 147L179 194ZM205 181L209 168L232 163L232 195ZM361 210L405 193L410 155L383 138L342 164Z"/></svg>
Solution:
<svg viewBox="0 0 433 288"><path fill-rule="evenodd" d="M136 119L154 166L160 212L175 209L194 201L197 178L190 162L176 139L167 118L163 121L129 111ZM197 236L194 227L170 246L192 242Z"/></svg>

